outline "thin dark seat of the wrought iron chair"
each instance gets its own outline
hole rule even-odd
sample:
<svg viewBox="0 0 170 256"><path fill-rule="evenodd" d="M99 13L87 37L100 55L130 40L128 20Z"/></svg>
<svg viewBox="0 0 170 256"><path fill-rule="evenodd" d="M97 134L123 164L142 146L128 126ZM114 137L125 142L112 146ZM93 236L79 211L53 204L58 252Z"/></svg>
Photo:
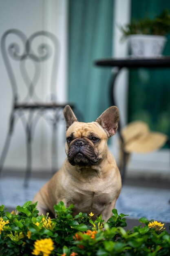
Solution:
<svg viewBox="0 0 170 256"><path fill-rule="evenodd" d="M22 108L22 109L36 109L36 108L64 108L68 103L62 103L62 104L58 104L58 103L54 103L54 102L49 102L49 103L44 103L44 102L34 102L34 103L27 103L27 102L23 102L23 103L15 103L14 104L14 108L18 109L18 108ZM71 108L73 108L73 105L69 103L69 105L71 106Z"/></svg>

